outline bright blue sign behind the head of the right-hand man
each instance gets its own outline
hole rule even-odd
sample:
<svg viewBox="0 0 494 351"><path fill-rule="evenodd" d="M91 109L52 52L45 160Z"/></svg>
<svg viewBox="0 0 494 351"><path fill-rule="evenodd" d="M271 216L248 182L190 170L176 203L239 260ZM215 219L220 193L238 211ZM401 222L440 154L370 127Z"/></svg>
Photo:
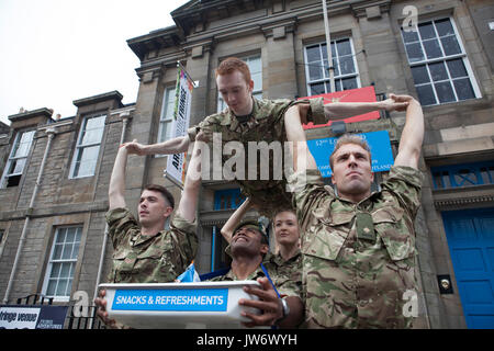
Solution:
<svg viewBox="0 0 494 351"><path fill-rule="evenodd" d="M390 170L394 163L393 152L391 151L390 135L388 131L370 132L358 134L367 140L371 149L372 171L383 172ZM335 149L338 138L323 138L307 140L308 149L317 163L317 168L323 177L332 177L329 166L329 156Z"/></svg>

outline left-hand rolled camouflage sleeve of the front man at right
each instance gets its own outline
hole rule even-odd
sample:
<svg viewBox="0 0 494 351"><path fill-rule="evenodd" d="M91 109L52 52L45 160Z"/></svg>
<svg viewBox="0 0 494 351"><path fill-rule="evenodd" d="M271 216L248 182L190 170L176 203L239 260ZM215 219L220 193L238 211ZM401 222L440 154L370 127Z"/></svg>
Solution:
<svg viewBox="0 0 494 351"><path fill-rule="evenodd" d="M317 169L295 172L288 178L288 183L293 192L292 202L301 231L304 231L312 210L319 207L323 195L327 195L328 192L324 189L323 177Z"/></svg>

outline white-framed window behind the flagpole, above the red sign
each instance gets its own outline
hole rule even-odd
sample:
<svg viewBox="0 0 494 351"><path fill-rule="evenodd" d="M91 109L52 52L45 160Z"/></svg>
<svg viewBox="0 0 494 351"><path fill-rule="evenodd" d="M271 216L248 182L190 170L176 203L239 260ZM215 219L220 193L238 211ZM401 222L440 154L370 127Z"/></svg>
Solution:
<svg viewBox="0 0 494 351"><path fill-rule="evenodd" d="M326 43L305 46L305 78L307 95L332 92ZM353 44L350 38L332 42L333 67L336 91L360 88Z"/></svg>

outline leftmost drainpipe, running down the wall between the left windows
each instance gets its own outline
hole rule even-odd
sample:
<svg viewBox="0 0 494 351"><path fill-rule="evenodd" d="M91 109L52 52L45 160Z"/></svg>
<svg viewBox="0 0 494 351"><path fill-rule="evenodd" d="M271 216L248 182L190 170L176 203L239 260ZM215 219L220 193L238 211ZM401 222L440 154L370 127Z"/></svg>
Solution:
<svg viewBox="0 0 494 351"><path fill-rule="evenodd" d="M49 127L46 129L46 134L48 135L48 141L46 143L45 154L43 155L43 160L40 166L40 171L37 173L36 183L34 184L33 195L31 196L30 206L27 208L27 213L25 215L24 227L22 227L21 238L19 239L18 252L15 253L15 259L13 262L12 271L10 273L9 282L7 284L5 296L3 296L3 304L9 302L10 290L12 288L13 279L15 276L15 271L18 270L19 259L21 258L22 249L24 248L25 236L27 233L27 227L30 225L31 215L33 213L34 200L36 199L37 191L40 190L43 171L45 169L46 158L48 157L49 148L52 147L52 140L55 136L55 128Z"/></svg>

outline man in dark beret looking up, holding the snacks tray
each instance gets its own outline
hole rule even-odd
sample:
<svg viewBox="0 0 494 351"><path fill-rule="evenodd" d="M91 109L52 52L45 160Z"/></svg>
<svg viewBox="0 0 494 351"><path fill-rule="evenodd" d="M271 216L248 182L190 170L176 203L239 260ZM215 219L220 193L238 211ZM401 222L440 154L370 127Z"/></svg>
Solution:
<svg viewBox="0 0 494 351"><path fill-rule="evenodd" d="M300 275L297 281L287 274L269 258L269 244L265 228L257 220L245 220L234 230L231 241L231 256L233 258L231 270L213 278L212 281L257 280L260 287L245 287L248 294L257 295L259 301L240 299L238 303L245 307L255 307L262 310L261 315L244 312L250 318L247 327L279 325L283 328L294 328L303 317ZM268 272L269 279L266 275ZM276 286L274 291L273 285Z"/></svg>

